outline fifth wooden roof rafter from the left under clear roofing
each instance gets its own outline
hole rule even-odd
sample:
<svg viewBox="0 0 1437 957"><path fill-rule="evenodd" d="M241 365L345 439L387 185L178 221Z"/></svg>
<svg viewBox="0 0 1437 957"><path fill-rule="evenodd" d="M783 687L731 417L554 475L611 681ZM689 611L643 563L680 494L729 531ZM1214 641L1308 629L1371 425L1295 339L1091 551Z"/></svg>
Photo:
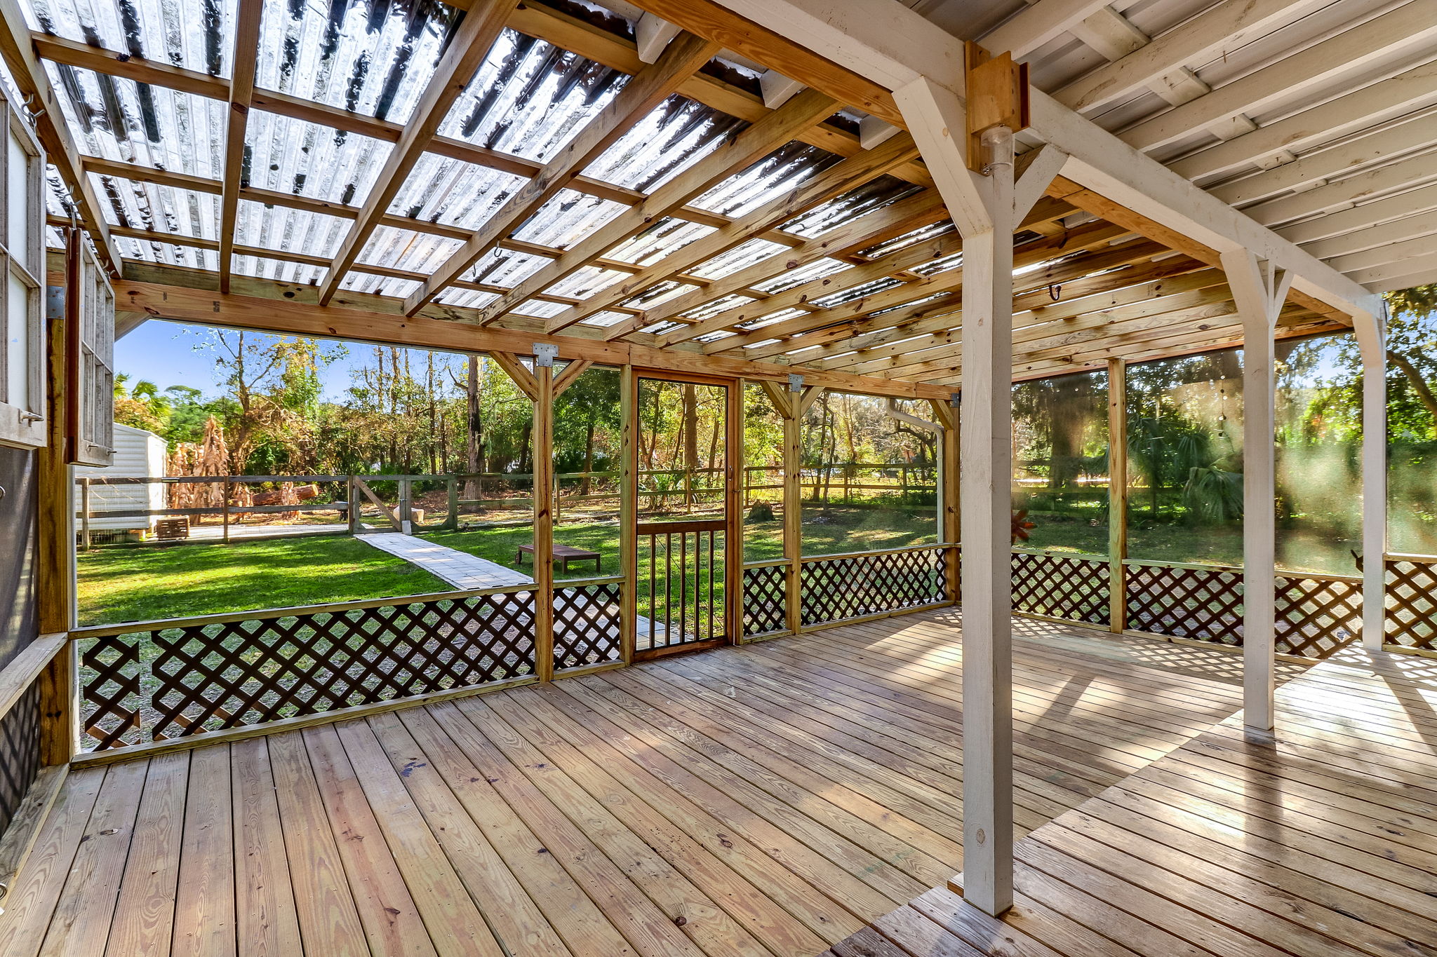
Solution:
<svg viewBox="0 0 1437 957"><path fill-rule="evenodd" d="M539 270L502 300L484 310L486 321L502 317L537 290L547 288L579 271L593 257L638 235L694 197L703 195L729 176L741 172L775 149L789 143L799 132L832 116L838 105L822 93L808 92L793 98L753 126L674 176L642 202L621 212L589 235L573 242L555 263ZM721 224L717 228L723 228ZM772 231L769 231L772 232Z"/></svg>

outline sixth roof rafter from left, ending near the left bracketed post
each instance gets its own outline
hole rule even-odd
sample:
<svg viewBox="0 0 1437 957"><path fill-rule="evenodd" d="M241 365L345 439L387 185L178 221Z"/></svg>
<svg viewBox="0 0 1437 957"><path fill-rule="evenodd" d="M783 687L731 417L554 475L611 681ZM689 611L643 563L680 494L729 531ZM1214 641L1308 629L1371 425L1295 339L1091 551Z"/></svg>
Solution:
<svg viewBox="0 0 1437 957"><path fill-rule="evenodd" d="M690 242L681 250L664 257L658 263L647 267L642 273L628 281L621 281L591 296L582 307L575 307L550 320L550 331L570 326L586 316L622 303L644 290L673 278L675 274L693 268L727 250L731 250L757 234L780 222L792 220L815 207L839 197L849 189L861 187L871 179L891 172L900 164L907 162L917 154L912 138L907 133L894 136L867 154L849 156L828 169L818 172L803 181L787 195L779 197L763 207L759 207L741 220L736 220L723 230L717 230L701 240ZM611 339L619 339L631 331L642 329L637 324L641 320L629 320L614 326Z"/></svg>

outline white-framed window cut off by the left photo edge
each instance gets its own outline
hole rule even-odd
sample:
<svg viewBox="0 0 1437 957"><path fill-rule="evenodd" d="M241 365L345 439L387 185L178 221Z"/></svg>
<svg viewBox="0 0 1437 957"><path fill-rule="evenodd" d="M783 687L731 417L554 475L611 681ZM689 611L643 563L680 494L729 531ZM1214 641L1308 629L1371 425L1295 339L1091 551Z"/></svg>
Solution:
<svg viewBox="0 0 1437 957"><path fill-rule="evenodd" d="M24 118L0 96L6 128L3 155L4 224L0 265L6 290L0 297L0 442L42 446L45 433L45 339L40 296L45 291L40 175L45 156Z"/></svg>

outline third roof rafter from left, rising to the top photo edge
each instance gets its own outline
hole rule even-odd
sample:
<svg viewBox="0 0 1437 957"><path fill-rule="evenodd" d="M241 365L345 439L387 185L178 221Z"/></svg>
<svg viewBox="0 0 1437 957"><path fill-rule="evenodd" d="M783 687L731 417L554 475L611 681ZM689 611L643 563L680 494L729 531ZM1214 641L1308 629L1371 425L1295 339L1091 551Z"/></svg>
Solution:
<svg viewBox="0 0 1437 957"><path fill-rule="evenodd" d="M440 57L434 76L430 77L420 102L414 106L410 122L405 123L404 132L399 133L398 142L389 151L384 168L369 189L369 195L365 197L359 217L349 228L349 234L329 267L329 275L319 294L320 304L333 298L335 291L339 290L349 267L359 257L369 235L379 225L379 220L389 211L389 204L399 192L410 171L414 169L430 141L438 133L454 100L460 98L470 79L484 63L489 49L499 39L499 33L504 29L516 3L517 0L483 0L464 14L450 39L448 49Z"/></svg>

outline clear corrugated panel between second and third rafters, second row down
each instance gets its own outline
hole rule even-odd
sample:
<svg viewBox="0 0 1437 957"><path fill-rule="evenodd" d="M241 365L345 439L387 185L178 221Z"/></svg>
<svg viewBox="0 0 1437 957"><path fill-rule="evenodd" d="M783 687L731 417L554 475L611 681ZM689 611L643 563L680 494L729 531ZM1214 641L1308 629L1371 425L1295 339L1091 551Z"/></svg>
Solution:
<svg viewBox="0 0 1437 957"><path fill-rule="evenodd" d="M250 187L362 205L394 143L250 110L243 179Z"/></svg>

